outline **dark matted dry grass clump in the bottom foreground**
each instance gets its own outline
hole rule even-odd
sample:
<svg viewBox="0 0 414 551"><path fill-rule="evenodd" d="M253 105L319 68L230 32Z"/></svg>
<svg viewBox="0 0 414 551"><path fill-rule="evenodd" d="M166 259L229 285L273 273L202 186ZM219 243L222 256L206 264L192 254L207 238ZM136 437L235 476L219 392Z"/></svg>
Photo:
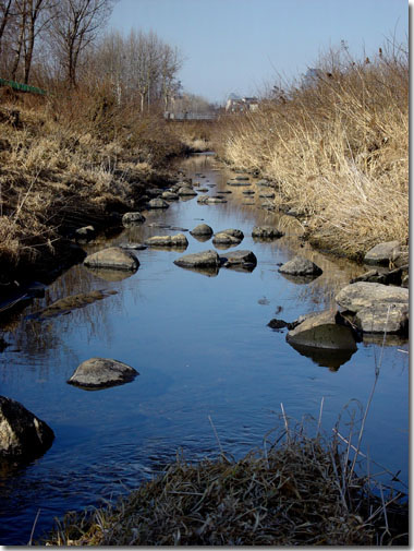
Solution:
<svg viewBox="0 0 414 551"><path fill-rule="evenodd" d="M114 505L69 513L48 546L406 544L407 506L350 468L350 450L287 431L238 462L183 458ZM282 436L284 434L284 440Z"/></svg>

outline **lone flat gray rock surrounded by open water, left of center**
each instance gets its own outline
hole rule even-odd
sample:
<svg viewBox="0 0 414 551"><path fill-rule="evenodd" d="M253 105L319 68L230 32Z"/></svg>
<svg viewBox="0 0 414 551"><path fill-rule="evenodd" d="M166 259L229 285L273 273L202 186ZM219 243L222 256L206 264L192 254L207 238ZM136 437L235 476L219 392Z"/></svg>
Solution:
<svg viewBox="0 0 414 551"><path fill-rule="evenodd" d="M90 358L76 368L68 383L85 390L98 390L129 383L138 374L134 368L122 361Z"/></svg>

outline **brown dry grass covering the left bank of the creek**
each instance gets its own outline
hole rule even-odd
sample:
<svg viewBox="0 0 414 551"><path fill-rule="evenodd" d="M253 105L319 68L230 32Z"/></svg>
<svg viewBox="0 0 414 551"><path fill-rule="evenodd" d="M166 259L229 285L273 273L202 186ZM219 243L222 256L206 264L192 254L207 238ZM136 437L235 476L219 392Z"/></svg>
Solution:
<svg viewBox="0 0 414 551"><path fill-rule="evenodd" d="M0 261L9 267L51 251L68 225L132 208L184 148L158 116L117 108L105 91L0 92Z"/></svg>

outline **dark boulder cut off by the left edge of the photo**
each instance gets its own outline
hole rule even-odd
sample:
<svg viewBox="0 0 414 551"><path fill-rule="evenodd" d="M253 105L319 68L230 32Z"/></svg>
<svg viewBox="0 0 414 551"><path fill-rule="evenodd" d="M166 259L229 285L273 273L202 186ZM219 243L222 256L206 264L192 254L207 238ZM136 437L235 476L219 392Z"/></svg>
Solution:
<svg viewBox="0 0 414 551"><path fill-rule="evenodd" d="M31 459L54 439L50 427L14 399L0 396L0 458Z"/></svg>

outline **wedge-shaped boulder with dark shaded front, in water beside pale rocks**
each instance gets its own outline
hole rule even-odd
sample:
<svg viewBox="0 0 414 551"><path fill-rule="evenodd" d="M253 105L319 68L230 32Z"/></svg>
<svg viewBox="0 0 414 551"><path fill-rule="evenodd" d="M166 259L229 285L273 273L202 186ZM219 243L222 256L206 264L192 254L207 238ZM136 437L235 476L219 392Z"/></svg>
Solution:
<svg viewBox="0 0 414 551"><path fill-rule="evenodd" d="M306 318L288 333L287 340L292 345L331 350L355 351L357 348L352 325L332 310Z"/></svg>

